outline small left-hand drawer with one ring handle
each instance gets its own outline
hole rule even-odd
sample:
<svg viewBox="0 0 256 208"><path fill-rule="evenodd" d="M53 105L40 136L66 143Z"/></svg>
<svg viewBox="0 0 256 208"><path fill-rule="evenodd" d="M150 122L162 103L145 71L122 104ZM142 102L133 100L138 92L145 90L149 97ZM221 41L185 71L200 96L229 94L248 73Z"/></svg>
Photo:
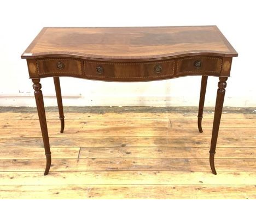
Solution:
<svg viewBox="0 0 256 208"><path fill-rule="evenodd" d="M37 60L39 75L82 75L82 63L75 59Z"/></svg>

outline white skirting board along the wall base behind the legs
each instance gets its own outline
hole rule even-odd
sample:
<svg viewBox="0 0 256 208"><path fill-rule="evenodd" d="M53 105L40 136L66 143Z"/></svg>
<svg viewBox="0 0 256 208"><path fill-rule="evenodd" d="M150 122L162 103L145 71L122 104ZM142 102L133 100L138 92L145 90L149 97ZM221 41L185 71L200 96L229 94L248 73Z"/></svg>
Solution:
<svg viewBox="0 0 256 208"><path fill-rule="evenodd" d="M216 97L207 97L205 106L215 106ZM191 96L81 96L63 95L64 106L198 106L199 97ZM44 95L45 106L56 106L55 95ZM1 96L0 106L27 106L35 107L33 94L23 96ZM226 96L224 106L233 107L256 107L255 102L250 102L249 97L229 97Z"/></svg>

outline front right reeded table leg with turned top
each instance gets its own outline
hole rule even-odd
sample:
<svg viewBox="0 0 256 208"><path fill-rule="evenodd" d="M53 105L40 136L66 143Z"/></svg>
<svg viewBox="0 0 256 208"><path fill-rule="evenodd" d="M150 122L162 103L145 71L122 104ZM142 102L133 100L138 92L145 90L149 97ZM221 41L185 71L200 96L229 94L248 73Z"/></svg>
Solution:
<svg viewBox="0 0 256 208"><path fill-rule="evenodd" d="M215 105L215 112L214 112L214 120L213 120L213 127L212 127L212 140L211 140L211 148L210 148L210 166L212 169L213 174L216 173L216 169L214 167L214 154L216 150L217 138L219 133L219 124L220 118L222 117L222 108L225 96L225 88L226 88L226 80L228 77L219 77L218 83L218 91L217 91L217 98L216 98L216 105Z"/></svg>

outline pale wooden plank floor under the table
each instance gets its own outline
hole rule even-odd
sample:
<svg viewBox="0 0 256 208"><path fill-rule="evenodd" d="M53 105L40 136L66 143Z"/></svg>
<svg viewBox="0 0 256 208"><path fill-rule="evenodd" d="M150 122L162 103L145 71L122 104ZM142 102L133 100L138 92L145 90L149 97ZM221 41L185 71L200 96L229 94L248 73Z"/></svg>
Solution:
<svg viewBox="0 0 256 208"><path fill-rule="evenodd" d="M46 108L45 155L34 108L0 107L1 199L255 199L256 112L225 108L216 150L208 151L213 108L197 130L196 108Z"/></svg>

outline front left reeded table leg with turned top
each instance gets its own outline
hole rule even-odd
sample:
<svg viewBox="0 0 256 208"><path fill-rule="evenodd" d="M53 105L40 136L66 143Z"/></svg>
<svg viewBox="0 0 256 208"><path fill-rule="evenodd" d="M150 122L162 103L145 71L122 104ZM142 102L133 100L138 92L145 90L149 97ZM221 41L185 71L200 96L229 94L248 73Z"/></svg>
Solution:
<svg viewBox="0 0 256 208"><path fill-rule="evenodd" d="M51 151L50 151L50 144L49 144L49 137L48 137L48 130L46 124L46 117L45 117L45 110L44 110L44 100L43 100L43 93L42 93L42 85L40 84L40 79L32 79L33 82L33 89L34 89L34 97L37 103L37 112L44 142L44 150L46 156L46 167L44 175L47 175L50 170L51 166Z"/></svg>

